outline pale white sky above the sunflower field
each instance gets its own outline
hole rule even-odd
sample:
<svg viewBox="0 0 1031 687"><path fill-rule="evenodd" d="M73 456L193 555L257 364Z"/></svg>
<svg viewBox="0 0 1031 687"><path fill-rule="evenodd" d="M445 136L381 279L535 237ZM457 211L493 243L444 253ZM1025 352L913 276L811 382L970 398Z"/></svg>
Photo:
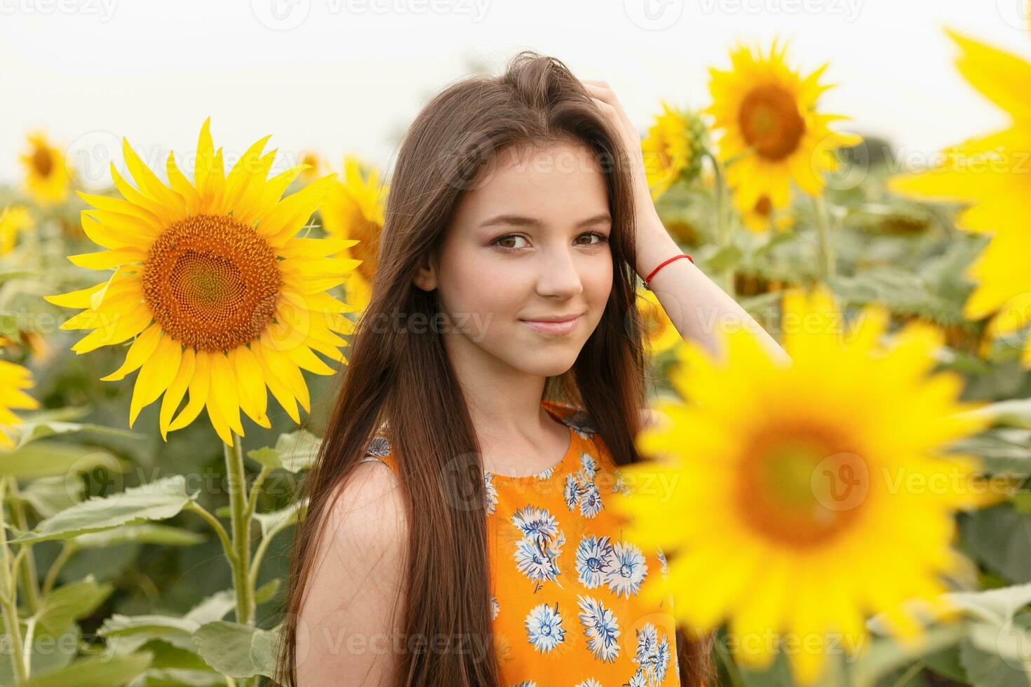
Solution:
<svg viewBox="0 0 1031 687"><path fill-rule="evenodd" d="M931 152L1005 123L953 66L952 26L1031 58L1025 0L0 0L0 182L44 128L103 185L122 136L148 161L192 156L212 117L237 154L272 134L277 168L314 148L389 171L429 96L523 48L609 81L643 129L659 99L708 103L735 39L790 37L830 62L823 109Z"/></svg>

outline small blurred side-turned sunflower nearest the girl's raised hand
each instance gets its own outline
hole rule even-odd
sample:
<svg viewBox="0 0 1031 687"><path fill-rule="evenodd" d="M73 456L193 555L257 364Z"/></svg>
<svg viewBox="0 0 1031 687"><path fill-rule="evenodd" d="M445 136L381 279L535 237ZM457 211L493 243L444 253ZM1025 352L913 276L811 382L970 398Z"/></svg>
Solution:
<svg viewBox="0 0 1031 687"><path fill-rule="evenodd" d="M641 141L644 176L652 200L658 199L677 179L692 181L702 170L702 156L708 149L708 130L696 113L662 102L662 113Z"/></svg>

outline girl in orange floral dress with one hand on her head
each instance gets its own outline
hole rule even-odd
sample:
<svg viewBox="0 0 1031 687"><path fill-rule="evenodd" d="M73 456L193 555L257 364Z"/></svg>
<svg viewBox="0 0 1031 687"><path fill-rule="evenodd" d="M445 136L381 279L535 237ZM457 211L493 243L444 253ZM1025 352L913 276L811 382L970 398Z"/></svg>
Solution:
<svg viewBox="0 0 1031 687"><path fill-rule="evenodd" d="M636 278L680 253L604 82L524 51L423 109L304 484L280 682L714 684L711 638L643 600L662 551L606 510L647 418ZM650 285L681 336L716 350L729 316L784 354L691 261Z"/></svg>

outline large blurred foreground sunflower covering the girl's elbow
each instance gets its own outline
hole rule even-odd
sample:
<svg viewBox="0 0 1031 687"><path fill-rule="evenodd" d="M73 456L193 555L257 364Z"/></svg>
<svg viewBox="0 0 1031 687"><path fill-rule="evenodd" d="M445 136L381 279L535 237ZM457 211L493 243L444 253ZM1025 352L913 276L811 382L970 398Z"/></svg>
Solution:
<svg viewBox="0 0 1031 687"><path fill-rule="evenodd" d="M950 548L953 511L998 500L979 495L974 456L937 452L988 423L957 414L979 405L958 402L958 374L928 374L940 331L908 324L883 344L888 321L868 306L840 339L841 315L819 286L785 295L790 364L744 329L725 333L726 359L686 342L671 382L689 403L660 401L636 439L657 459L622 469L640 488L612 509L629 516L629 539L672 552L679 621L708 631L729 620L751 667L769 665L763 640L778 636L804 643L790 659L811 683L826 633L855 651L866 612L919 644L922 626L900 604L950 617L938 576L962 560Z"/></svg>

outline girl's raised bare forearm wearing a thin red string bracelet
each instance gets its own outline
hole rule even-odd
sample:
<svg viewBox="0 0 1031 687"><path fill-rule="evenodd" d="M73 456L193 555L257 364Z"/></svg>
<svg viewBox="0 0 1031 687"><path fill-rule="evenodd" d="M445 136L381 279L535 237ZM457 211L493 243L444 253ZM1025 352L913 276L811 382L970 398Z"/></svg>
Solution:
<svg viewBox="0 0 1031 687"><path fill-rule="evenodd" d="M658 215L637 227L637 274L643 279L663 261L684 252ZM718 332L745 328L777 360L789 363L787 351L734 299L689 260L663 267L648 284L673 327L686 341L697 341L716 355L722 354Z"/></svg>

